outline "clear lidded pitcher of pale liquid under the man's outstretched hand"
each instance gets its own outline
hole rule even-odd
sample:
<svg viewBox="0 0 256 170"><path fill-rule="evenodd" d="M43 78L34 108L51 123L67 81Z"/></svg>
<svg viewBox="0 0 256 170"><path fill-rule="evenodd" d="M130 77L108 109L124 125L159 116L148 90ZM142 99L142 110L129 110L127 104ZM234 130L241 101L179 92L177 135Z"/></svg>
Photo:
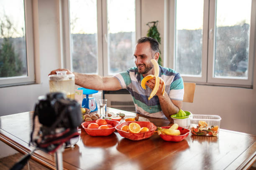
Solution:
<svg viewBox="0 0 256 170"><path fill-rule="evenodd" d="M50 92L63 92L67 97L74 99L74 75L67 71L56 71L56 75L49 75Z"/></svg>

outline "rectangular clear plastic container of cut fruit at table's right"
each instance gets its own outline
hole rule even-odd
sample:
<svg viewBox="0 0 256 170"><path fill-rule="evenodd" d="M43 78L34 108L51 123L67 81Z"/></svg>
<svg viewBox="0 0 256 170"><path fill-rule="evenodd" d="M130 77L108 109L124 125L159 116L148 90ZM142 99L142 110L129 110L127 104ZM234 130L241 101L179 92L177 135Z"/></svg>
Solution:
<svg viewBox="0 0 256 170"><path fill-rule="evenodd" d="M190 118L191 133L197 136L218 136L220 120L218 115L192 115Z"/></svg>

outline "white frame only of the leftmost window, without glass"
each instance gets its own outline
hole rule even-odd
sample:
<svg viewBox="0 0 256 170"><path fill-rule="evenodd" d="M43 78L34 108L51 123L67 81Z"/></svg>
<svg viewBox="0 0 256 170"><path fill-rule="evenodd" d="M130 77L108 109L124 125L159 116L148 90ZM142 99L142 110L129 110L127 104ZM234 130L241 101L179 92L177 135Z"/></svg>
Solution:
<svg viewBox="0 0 256 170"><path fill-rule="evenodd" d="M33 84L35 82L35 66L34 66L34 45L33 45L33 7L32 0L24 0L25 14L25 43L26 43L26 59L27 74L26 76L1 77L0 87L8 87L14 85Z"/></svg>

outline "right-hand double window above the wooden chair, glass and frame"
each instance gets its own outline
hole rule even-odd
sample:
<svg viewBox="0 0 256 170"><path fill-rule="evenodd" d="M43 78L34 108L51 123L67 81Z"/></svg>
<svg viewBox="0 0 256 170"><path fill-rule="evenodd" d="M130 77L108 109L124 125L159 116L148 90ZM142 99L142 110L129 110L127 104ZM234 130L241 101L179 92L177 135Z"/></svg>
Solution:
<svg viewBox="0 0 256 170"><path fill-rule="evenodd" d="M255 2L172 0L171 4L175 38L170 63L184 81L251 87Z"/></svg>

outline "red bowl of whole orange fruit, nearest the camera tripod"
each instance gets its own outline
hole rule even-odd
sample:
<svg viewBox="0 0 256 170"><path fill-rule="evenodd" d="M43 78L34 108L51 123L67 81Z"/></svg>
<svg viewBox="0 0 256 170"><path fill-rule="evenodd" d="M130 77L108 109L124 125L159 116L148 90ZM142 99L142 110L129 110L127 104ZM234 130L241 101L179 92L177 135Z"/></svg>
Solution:
<svg viewBox="0 0 256 170"><path fill-rule="evenodd" d="M115 131L115 126L120 124L120 122L118 122L116 120L108 120L108 119L105 119L105 120L107 121L108 125L112 125L113 128L109 128L109 129L89 129L89 128L87 128L90 123L95 123L96 120L92 120L89 122L83 122L81 125L84 128L85 132L90 136L108 136Z"/></svg>

